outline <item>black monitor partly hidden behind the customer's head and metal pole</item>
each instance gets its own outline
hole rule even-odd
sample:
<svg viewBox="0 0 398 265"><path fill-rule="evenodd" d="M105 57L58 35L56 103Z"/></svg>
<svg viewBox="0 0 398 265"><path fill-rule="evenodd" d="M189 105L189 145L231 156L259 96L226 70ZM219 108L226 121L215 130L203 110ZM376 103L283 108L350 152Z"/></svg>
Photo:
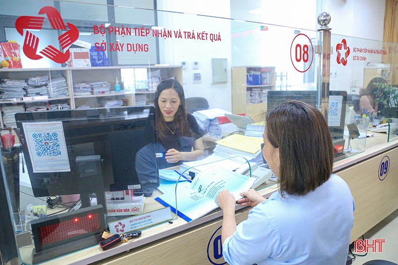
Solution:
<svg viewBox="0 0 398 265"><path fill-rule="evenodd" d="M342 96L342 109L340 116L340 125L330 126L332 139L344 139L344 122L346 118L347 91L330 91L330 96ZM282 102L288 100L301 100L316 107L316 91L268 91L267 110L273 109Z"/></svg>

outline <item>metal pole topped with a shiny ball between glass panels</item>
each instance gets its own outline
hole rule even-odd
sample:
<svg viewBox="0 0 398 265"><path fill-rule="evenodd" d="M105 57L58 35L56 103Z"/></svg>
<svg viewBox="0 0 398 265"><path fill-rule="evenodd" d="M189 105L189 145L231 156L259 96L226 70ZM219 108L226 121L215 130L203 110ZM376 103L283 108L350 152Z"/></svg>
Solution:
<svg viewBox="0 0 398 265"><path fill-rule="evenodd" d="M330 55L331 55L331 28L328 24L331 21L329 13L323 12L318 16L318 24L321 27L318 31L322 31L321 49L320 49L320 69L322 69L322 82L320 84L320 93L318 94L318 108L328 121L329 110L329 88L330 88ZM318 82L319 84L319 82Z"/></svg>

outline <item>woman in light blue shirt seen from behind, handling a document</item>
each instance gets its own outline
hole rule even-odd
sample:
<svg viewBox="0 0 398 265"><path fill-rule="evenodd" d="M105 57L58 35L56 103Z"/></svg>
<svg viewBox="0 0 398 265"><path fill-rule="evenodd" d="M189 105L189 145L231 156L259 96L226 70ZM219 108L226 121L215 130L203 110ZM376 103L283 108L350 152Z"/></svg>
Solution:
<svg viewBox="0 0 398 265"><path fill-rule="evenodd" d="M278 176L268 200L255 190L241 193L252 206L236 225L235 200L217 195L223 210L223 256L230 265L344 265L353 226L354 200L348 185L332 174L328 123L312 105L282 103L266 114L263 156Z"/></svg>

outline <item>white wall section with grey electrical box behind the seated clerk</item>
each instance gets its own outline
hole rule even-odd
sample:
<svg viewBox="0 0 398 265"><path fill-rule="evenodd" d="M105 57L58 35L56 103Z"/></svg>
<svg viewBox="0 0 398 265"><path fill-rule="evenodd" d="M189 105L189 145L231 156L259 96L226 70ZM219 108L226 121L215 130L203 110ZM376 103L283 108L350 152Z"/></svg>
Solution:
<svg viewBox="0 0 398 265"><path fill-rule="evenodd" d="M210 8L211 7L211 8ZM206 14L209 16L230 16L230 0L163 0L158 1L159 10ZM161 62L170 65L187 63L182 70L185 97L205 97L210 108L231 111L231 22L229 19L211 18L187 14L158 12L161 27L181 31L206 31L220 33L221 41L189 39L159 39ZM183 33L182 33L183 34ZM228 82L212 83L211 58L226 58L228 62ZM192 69L192 63L199 62L199 69ZM201 74L201 83L193 83L193 73Z"/></svg>

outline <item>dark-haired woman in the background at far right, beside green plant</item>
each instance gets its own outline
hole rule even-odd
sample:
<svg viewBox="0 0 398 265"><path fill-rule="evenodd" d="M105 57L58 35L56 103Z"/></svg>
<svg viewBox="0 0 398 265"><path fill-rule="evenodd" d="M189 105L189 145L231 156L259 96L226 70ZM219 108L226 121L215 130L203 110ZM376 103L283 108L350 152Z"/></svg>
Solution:
<svg viewBox="0 0 398 265"><path fill-rule="evenodd" d="M379 90L375 85L377 83L386 84L387 81L384 78L373 78L370 80L365 92L361 95L361 99L359 100L359 108L355 108L354 106L354 111L357 114L366 114L369 112L370 114L373 114L373 116L377 116L377 112L382 109L383 106L379 106L379 104L382 103L375 102L376 94Z"/></svg>

